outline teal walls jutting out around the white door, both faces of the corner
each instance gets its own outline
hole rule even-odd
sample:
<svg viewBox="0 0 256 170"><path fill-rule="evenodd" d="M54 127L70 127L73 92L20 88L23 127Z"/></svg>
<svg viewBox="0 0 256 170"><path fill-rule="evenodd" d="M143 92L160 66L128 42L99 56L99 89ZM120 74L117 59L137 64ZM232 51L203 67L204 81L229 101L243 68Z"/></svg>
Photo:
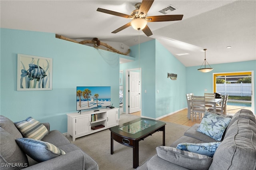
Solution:
<svg viewBox="0 0 256 170"><path fill-rule="evenodd" d="M130 49L136 60L120 64L120 70L142 68L142 116L157 119L185 108L186 67L156 40L140 44L140 62L138 45ZM178 74L178 79L167 78L168 72Z"/></svg>

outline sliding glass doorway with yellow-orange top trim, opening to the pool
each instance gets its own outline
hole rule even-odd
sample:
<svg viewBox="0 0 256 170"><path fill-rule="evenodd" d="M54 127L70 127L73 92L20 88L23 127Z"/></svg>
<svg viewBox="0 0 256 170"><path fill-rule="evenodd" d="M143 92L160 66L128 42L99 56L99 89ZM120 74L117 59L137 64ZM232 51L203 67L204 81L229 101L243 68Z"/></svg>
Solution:
<svg viewBox="0 0 256 170"><path fill-rule="evenodd" d="M243 108L254 112L253 71L214 73L213 78L214 93L229 95L227 113L233 114Z"/></svg>

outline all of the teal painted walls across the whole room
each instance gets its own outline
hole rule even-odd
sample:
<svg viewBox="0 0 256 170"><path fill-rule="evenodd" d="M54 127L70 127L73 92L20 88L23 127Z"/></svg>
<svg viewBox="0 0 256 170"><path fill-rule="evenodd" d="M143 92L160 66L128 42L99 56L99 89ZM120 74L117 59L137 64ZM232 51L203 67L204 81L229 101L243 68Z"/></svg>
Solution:
<svg viewBox="0 0 256 170"><path fill-rule="evenodd" d="M32 116L61 132L67 132L66 114L76 112L76 86L111 86L113 106L119 107L119 70L124 71L125 91L125 70L142 68L142 116L153 119L186 108L186 93L203 95L204 89L212 92L213 73L256 73L256 60L211 65L212 72L201 73L199 66L182 65L156 40L140 44L140 60L138 45L130 47L135 60L119 68L119 64L107 63L100 55L111 57L113 53L99 53L93 47L57 39L52 33L1 28L0 38L0 114L12 121ZM17 91L18 53L53 59L52 91ZM177 74L177 80L167 78L167 73Z"/></svg>

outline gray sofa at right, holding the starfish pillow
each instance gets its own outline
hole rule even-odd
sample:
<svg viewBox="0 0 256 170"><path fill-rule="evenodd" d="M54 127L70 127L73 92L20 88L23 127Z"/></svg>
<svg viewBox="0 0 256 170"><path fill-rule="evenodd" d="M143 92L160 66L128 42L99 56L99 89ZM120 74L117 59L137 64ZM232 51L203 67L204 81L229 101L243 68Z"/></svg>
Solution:
<svg viewBox="0 0 256 170"><path fill-rule="evenodd" d="M220 115L219 113L215 113ZM157 154L149 158L137 170L256 170L256 119L252 111L241 109L226 127L222 140L196 131L199 124L189 128L184 136L170 147L158 146ZM168 132L167 134L168 135ZM180 143L221 142L213 157L178 150Z"/></svg>

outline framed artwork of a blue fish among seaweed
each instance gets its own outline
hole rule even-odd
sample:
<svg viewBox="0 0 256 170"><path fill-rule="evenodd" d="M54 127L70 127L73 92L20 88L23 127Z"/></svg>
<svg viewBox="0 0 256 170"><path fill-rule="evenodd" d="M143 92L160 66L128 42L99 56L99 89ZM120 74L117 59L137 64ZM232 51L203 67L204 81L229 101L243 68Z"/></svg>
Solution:
<svg viewBox="0 0 256 170"><path fill-rule="evenodd" d="M18 54L17 90L52 90L52 58Z"/></svg>

